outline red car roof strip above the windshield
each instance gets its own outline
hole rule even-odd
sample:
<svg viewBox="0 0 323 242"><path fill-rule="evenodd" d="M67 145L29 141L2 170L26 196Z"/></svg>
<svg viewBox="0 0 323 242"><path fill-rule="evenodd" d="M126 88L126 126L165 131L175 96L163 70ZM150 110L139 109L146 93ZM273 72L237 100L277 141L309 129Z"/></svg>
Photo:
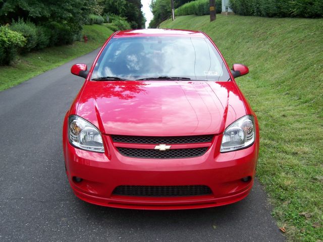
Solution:
<svg viewBox="0 0 323 242"><path fill-rule="evenodd" d="M206 38L200 31L182 30L182 29L135 29L117 32L113 37L141 37L141 36L183 36Z"/></svg>

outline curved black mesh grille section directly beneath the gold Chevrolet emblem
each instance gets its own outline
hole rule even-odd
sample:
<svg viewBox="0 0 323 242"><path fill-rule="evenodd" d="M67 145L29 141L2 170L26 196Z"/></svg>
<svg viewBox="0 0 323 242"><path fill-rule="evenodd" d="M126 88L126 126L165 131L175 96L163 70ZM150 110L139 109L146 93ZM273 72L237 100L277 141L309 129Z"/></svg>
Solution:
<svg viewBox="0 0 323 242"><path fill-rule="evenodd" d="M120 154L133 158L156 158L156 159L171 159L171 158L191 158L203 155L207 147L191 148L191 149L170 149L165 151L154 149L134 149L117 147Z"/></svg>

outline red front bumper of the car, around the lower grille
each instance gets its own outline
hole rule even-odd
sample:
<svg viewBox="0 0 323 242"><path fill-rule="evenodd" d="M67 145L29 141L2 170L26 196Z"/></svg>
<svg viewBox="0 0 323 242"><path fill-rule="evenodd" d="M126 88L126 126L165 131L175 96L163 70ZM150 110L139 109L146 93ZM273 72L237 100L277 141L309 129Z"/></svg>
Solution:
<svg viewBox="0 0 323 242"><path fill-rule="evenodd" d="M195 158L140 159L122 156L110 136L103 135L105 153L77 149L63 137L67 176L80 199L101 206L135 209L192 209L226 205L245 198L253 185L258 143L220 153L222 136ZM81 177L79 183L73 177ZM247 182L243 177L250 176ZM117 186L205 185L212 194L190 197L133 197L114 195Z"/></svg>

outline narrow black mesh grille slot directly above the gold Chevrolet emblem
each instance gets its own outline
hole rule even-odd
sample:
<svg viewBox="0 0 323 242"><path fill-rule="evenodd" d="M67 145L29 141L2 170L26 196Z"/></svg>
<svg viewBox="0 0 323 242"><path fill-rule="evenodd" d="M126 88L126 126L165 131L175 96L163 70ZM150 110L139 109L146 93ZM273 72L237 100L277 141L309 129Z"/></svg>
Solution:
<svg viewBox="0 0 323 242"><path fill-rule="evenodd" d="M211 142L213 135L174 136L174 137L112 135L111 137L112 137L113 142L119 142L119 143L194 144L194 143Z"/></svg>

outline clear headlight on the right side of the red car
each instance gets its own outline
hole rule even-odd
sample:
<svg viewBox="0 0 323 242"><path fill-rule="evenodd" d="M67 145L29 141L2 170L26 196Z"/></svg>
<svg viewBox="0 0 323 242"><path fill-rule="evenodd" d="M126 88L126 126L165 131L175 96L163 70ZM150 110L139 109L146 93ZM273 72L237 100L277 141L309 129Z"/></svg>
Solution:
<svg viewBox="0 0 323 242"><path fill-rule="evenodd" d="M236 120L225 130L220 152L247 148L253 144L255 136L254 117L245 115Z"/></svg>

